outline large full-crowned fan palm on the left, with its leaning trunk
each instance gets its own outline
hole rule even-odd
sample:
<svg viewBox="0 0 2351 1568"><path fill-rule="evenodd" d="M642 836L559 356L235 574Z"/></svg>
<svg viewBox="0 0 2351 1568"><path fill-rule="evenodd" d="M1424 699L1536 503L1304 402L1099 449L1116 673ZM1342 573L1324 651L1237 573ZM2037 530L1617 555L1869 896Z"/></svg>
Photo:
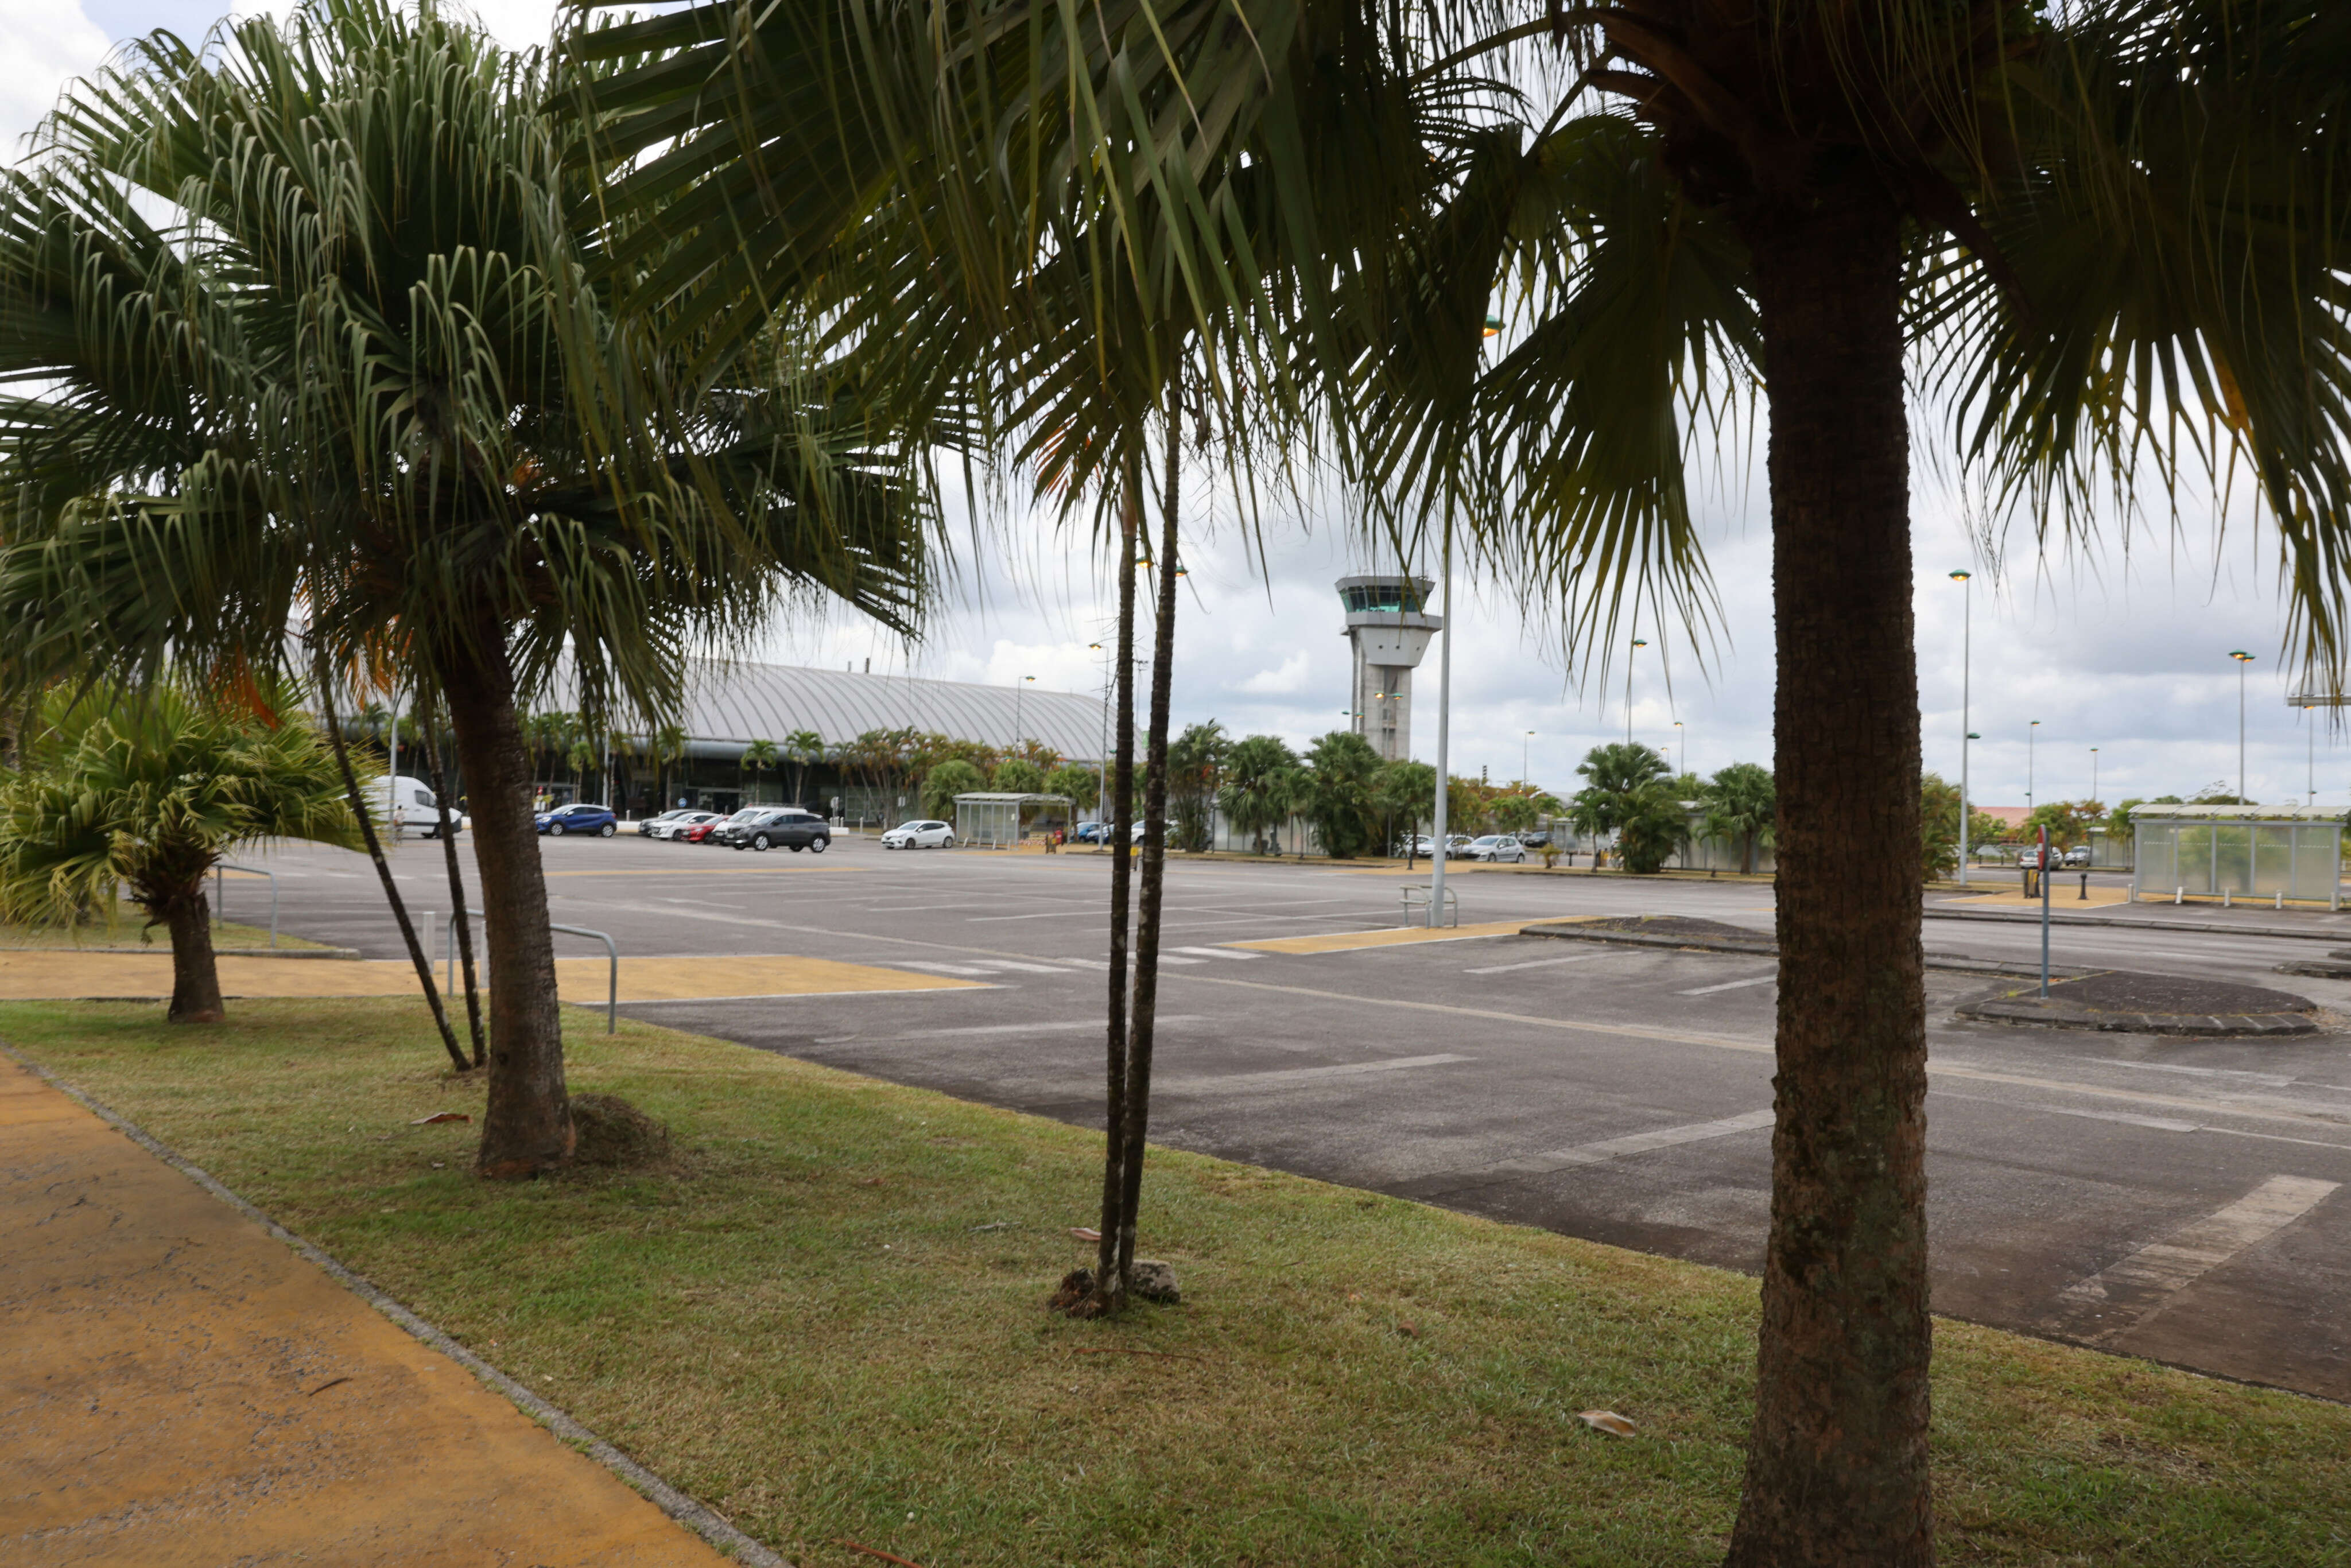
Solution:
<svg viewBox="0 0 2351 1568"><path fill-rule="evenodd" d="M496 976L484 1175L571 1154L522 701L562 658L600 724L675 710L689 646L792 595L905 628L929 527L860 371L783 317L712 362L691 292L611 310L545 99L444 12L313 0L127 45L0 186L0 371L54 388L0 404L26 668L266 670L301 621L435 693Z"/></svg>

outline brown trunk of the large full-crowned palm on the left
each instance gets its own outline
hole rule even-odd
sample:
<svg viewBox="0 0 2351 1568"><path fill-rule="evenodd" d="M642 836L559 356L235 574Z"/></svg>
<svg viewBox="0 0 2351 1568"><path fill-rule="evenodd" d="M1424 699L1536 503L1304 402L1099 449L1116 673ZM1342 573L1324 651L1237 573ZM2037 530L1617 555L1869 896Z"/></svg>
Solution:
<svg viewBox="0 0 2351 1568"><path fill-rule="evenodd" d="M473 1168L520 1180L571 1159L574 1133L548 879L531 823L531 764L515 712L515 670L496 623L477 630L473 649L449 654L442 691L473 799L473 860L489 950L489 1105Z"/></svg>

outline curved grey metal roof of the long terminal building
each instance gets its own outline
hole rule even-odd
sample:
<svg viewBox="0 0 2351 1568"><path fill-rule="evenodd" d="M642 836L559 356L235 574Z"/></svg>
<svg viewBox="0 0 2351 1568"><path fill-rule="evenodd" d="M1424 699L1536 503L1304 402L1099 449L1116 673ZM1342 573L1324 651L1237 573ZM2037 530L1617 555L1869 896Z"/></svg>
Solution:
<svg viewBox="0 0 2351 1568"><path fill-rule="evenodd" d="M569 682L555 684L548 703L567 705ZM999 748L1041 741L1072 762L1098 762L1105 703L1039 686L1016 693L973 682L696 658L679 724L696 757L738 757L752 741L781 745L795 729L813 729L825 745L868 729L917 729Z"/></svg>

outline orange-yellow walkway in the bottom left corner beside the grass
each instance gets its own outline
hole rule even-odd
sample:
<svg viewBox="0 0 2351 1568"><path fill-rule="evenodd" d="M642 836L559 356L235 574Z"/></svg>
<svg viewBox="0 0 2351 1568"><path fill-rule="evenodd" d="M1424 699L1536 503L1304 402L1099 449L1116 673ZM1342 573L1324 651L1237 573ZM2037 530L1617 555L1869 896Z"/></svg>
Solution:
<svg viewBox="0 0 2351 1568"><path fill-rule="evenodd" d="M7 1563L726 1561L14 1063L0 1331Z"/></svg>

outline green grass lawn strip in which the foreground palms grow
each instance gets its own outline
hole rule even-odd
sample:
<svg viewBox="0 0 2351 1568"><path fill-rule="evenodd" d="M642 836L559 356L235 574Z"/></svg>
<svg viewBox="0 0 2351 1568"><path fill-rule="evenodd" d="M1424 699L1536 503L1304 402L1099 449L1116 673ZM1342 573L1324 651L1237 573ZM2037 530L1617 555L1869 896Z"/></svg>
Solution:
<svg viewBox="0 0 2351 1568"><path fill-rule="evenodd" d="M508 1187L409 1126L482 1093L421 1006L16 1004L0 1039L806 1568L1709 1563L1737 1505L1737 1274L1154 1152L1185 1302L1072 1324L1100 1154L1053 1121L583 1027L571 1086L677 1161ZM1942 1324L1935 1455L1947 1563L2351 1561L2339 1406Z"/></svg>

